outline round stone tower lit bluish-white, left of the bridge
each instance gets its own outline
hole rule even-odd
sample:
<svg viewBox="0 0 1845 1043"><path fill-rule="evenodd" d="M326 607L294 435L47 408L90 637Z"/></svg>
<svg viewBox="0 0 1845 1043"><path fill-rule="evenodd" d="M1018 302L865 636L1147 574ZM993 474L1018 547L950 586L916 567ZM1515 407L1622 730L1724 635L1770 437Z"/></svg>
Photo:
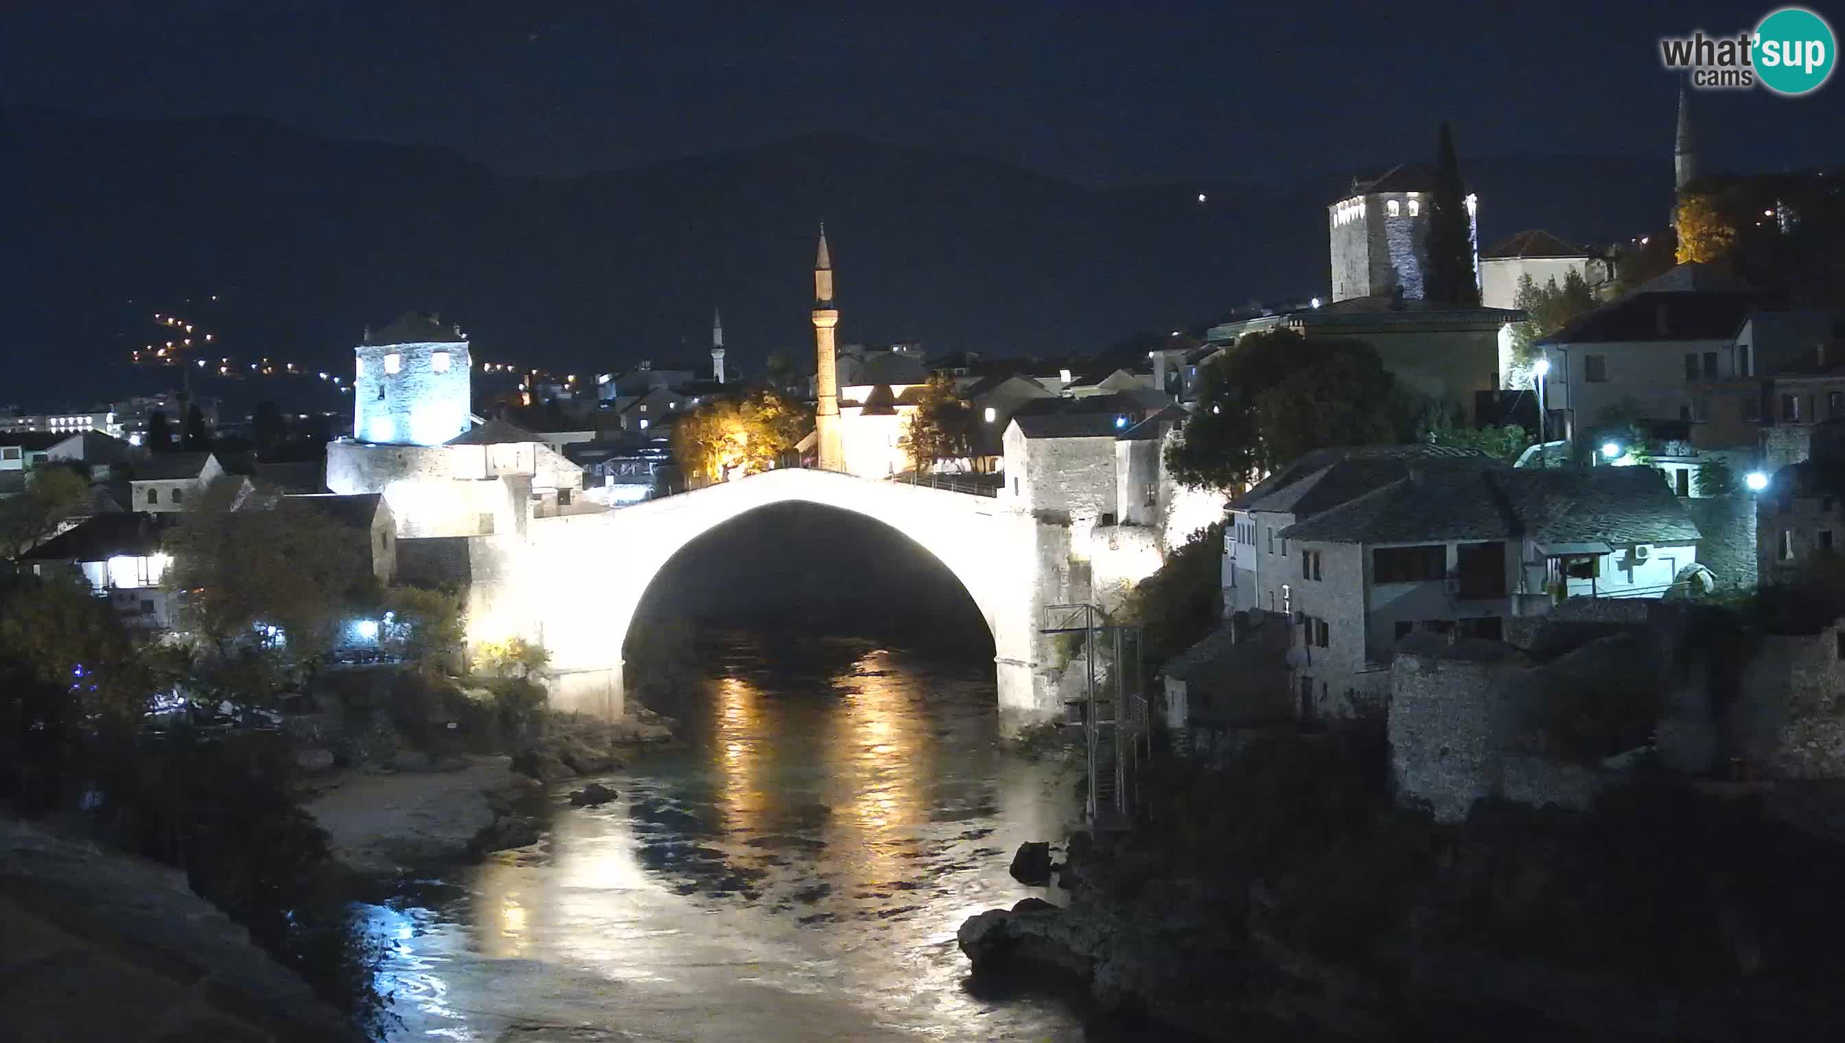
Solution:
<svg viewBox="0 0 1845 1043"><path fill-rule="evenodd" d="M406 312L352 349L352 438L441 445L469 430L472 360L461 327Z"/></svg>

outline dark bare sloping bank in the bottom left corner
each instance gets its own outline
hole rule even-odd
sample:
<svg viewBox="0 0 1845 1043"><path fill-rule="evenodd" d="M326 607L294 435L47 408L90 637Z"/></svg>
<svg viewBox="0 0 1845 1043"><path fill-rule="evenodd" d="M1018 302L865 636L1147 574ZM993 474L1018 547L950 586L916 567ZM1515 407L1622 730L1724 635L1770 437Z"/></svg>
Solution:
<svg viewBox="0 0 1845 1043"><path fill-rule="evenodd" d="M0 820L0 1037L304 1043L354 1032L179 869Z"/></svg>

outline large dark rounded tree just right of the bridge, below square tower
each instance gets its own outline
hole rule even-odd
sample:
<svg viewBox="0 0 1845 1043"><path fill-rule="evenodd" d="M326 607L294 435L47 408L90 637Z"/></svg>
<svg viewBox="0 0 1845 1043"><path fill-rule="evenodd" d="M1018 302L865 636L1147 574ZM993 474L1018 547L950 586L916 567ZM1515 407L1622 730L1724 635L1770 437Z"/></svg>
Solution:
<svg viewBox="0 0 1845 1043"><path fill-rule="evenodd" d="M1397 441L1402 417L1395 380L1369 345L1249 334L1205 366L1197 410L1166 467L1188 486L1234 489L1312 449Z"/></svg>

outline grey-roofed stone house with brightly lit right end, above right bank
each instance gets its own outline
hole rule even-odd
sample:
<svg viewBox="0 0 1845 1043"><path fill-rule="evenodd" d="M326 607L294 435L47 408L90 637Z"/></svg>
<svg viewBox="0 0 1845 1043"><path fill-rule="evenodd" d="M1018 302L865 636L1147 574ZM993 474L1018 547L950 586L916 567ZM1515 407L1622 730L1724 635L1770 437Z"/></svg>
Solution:
<svg viewBox="0 0 1845 1043"><path fill-rule="evenodd" d="M1660 598L1701 533L1649 467L1421 462L1277 537L1299 711L1349 716L1384 698L1410 633L1502 639L1566 596Z"/></svg>

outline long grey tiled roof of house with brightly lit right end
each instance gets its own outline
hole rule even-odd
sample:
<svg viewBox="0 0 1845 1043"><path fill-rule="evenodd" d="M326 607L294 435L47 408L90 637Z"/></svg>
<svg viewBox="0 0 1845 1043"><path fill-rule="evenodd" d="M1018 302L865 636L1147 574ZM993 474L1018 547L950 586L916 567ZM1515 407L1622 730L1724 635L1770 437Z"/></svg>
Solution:
<svg viewBox="0 0 1845 1043"><path fill-rule="evenodd" d="M1677 543L1701 539L1651 467L1467 469L1435 465L1282 530L1330 543L1511 539Z"/></svg>

